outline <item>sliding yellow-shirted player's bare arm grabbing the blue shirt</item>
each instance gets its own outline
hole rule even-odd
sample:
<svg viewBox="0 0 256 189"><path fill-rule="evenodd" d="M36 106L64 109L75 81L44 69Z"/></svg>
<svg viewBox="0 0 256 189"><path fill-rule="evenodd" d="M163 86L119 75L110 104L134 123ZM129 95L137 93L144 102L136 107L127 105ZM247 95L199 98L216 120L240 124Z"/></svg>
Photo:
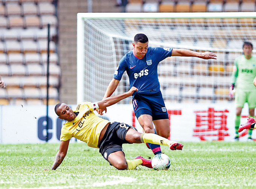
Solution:
<svg viewBox="0 0 256 189"><path fill-rule="evenodd" d="M110 96L102 101L99 101L99 102L97 102L99 105L99 109L107 111L106 107L109 107L109 106L116 104L117 102L129 97L129 96L132 96L133 93L137 90L138 89L136 87L131 87L131 89L126 93L116 95L116 96Z"/></svg>

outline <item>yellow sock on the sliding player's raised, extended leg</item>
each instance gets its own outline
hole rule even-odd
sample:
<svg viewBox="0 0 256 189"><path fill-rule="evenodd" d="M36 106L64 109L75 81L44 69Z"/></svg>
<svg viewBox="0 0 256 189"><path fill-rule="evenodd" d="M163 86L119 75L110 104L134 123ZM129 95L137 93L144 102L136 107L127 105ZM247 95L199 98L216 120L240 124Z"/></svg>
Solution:
<svg viewBox="0 0 256 189"><path fill-rule="evenodd" d="M160 144L169 146L173 141L163 138L162 136L153 133L142 133L140 139L143 143L149 142L152 144Z"/></svg>

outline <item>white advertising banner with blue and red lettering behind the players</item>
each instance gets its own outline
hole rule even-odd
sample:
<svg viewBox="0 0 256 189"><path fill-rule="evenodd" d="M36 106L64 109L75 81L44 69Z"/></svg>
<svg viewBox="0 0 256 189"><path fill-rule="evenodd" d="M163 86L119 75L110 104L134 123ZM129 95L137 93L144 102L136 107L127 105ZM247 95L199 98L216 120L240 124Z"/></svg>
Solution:
<svg viewBox="0 0 256 189"><path fill-rule="evenodd" d="M70 105L75 108L76 105ZM170 138L174 141L231 141L235 136L234 103L226 104L166 104L170 121ZM46 106L0 106L0 143L44 143L59 142L61 126L64 120L54 112L54 105L49 106L48 133L46 131ZM97 112L95 112L98 114ZM140 132L133 107L113 105L107 108L103 118L135 126ZM247 121L248 107L241 115L241 124ZM247 140L247 131L240 134L241 141ZM252 138L256 138L253 132ZM76 139L72 138L72 142Z"/></svg>

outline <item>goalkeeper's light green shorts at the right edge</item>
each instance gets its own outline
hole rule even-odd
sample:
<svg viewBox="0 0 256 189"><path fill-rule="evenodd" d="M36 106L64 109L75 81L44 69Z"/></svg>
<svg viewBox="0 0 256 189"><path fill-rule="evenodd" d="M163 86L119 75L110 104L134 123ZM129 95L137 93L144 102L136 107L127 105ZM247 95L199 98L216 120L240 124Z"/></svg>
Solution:
<svg viewBox="0 0 256 189"><path fill-rule="evenodd" d="M236 94L235 94L236 107L242 107L243 108L245 102L248 103L248 107L250 109L256 107L255 91L236 90Z"/></svg>

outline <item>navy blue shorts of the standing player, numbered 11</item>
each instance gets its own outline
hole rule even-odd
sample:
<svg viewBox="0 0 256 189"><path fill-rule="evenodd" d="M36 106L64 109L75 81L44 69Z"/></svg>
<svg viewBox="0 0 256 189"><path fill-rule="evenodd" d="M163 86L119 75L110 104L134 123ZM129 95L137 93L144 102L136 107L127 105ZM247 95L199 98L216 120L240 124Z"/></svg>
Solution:
<svg viewBox="0 0 256 189"><path fill-rule="evenodd" d="M133 96L133 110L137 118L148 114L152 120L169 119L161 92L155 94L138 94Z"/></svg>

